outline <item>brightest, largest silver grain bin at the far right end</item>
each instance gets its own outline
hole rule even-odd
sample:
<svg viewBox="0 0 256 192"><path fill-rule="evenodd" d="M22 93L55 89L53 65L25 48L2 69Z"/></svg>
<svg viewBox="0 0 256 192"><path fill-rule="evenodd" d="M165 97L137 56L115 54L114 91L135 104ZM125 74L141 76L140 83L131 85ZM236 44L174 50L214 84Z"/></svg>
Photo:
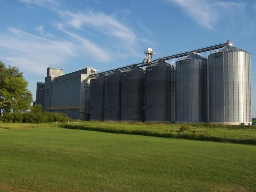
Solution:
<svg viewBox="0 0 256 192"><path fill-rule="evenodd" d="M228 42L209 55L209 121L252 122L250 53Z"/></svg>

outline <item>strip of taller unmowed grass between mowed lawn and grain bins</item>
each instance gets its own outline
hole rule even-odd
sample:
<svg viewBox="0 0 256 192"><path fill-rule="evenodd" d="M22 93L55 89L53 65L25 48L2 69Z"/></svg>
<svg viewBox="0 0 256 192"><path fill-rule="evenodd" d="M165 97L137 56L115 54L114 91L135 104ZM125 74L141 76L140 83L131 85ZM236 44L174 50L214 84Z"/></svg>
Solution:
<svg viewBox="0 0 256 192"><path fill-rule="evenodd" d="M60 124L59 126L100 132L256 144L255 126L194 124L189 125L189 130L182 132L180 131L181 124L147 124L142 122L83 122L81 124Z"/></svg>

